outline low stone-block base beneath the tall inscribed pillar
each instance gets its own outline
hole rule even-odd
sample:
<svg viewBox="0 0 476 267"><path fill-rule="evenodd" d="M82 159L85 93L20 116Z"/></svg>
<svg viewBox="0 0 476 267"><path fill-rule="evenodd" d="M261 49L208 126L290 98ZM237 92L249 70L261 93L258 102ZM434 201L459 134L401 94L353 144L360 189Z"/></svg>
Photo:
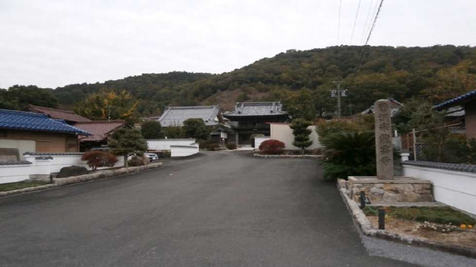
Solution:
<svg viewBox="0 0 476 267"><path fill-rule="evenodd" d="M375 176L349 176L346 183L349 197L360 202L360 192L372 204L397 202L433 202L431 182L412 177L379 180Z"/></svg>

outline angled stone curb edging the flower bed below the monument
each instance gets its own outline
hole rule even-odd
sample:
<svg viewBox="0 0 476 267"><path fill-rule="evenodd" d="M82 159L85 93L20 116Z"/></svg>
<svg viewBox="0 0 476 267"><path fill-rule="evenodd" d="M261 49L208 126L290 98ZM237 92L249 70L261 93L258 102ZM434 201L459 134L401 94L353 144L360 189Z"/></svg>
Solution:
<svg viewBox="0 0 476 267"><path fill-rule="evenodd" d="M342 199L347 205L347 208L351 212L352 217L354 218L354 221L357 223L358 229L360 230L361 234L389 240L396 243L401 243L401 244L406 244L406 245L411 245L416 247L424 247L424 248L429 248L432 250L449 252L449 253L476 259L476 249L458 246L458 245L445 244L441 242L433 242L433 241L428 241L428 240L413 237L413 236L395 234L395 233L387 232L385 230L374 229L370 221L367 219L365 214L357 205L356 201L351 200L348 197L347 190L345 188L341 188L340 183L338 184L338 188L340 190L340 195L342 196Z"/></svg>

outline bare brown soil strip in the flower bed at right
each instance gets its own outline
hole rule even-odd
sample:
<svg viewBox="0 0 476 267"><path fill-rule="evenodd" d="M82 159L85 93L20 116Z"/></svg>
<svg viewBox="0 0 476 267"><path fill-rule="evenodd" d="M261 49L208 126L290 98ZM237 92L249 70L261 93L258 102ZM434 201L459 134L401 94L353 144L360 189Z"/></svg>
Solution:
<svg viewBox="0 0 476 267"><path fill-rule="evenodd" d="M378 229L378 217L367 216L372 227ZM441 242L445 244L459 245L476 249L476 230L450 231L449 233L437 232L433 230L423 230L424 223L412 222L398 218L390 218L385 222L385 231L390 233L415 236L422 239ZM435 224L436 225L436 224Z"/></svg>

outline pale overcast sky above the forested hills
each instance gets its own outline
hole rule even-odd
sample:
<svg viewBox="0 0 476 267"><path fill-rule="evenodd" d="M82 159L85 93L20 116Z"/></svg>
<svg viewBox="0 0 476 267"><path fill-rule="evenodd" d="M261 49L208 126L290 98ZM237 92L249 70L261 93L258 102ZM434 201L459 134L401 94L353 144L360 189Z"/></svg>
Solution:
<svg viewBox="0 0 476 267"><path fill-rule="evenodd" d="M289 49L363 45L378 3L0 0L0 88L223 73ZM384 0L369 45L475 47L475 21L476 0Z"/></svg>

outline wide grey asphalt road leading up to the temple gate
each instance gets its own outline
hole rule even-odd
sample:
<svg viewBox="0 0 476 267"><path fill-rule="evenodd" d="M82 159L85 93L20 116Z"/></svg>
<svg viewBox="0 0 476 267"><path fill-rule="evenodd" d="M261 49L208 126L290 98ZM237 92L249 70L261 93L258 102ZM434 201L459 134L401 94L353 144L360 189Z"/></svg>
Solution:
<svg viewBox="0 0 476 267"><path fill-rule="evenodd" d="M417 266L388 258L381 250L389 242L361 240L315 162L202 152L147 172L1 198L0 266Z"/></svg>

